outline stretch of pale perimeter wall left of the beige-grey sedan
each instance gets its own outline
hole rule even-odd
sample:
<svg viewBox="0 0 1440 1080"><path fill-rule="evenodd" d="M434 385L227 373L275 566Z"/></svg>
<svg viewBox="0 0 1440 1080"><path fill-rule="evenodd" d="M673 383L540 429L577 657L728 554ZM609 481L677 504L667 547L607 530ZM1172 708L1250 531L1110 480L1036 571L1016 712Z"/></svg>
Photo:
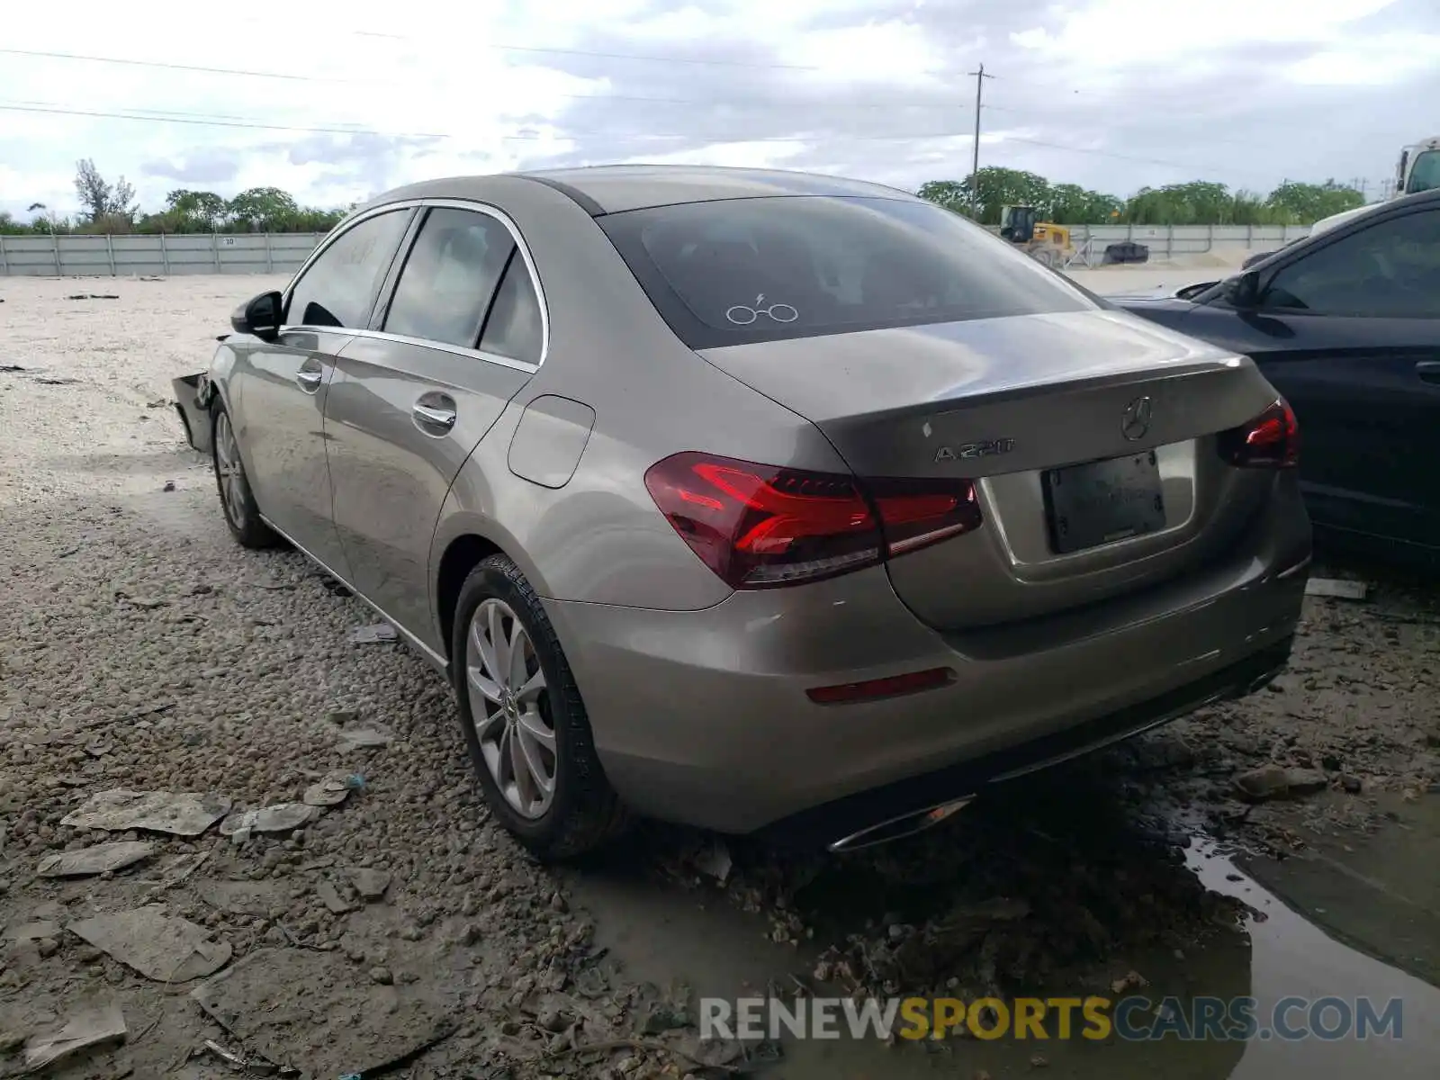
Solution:
<svg viewBox="0 0 1440 1080"><path fill-rule="evenodd" d="M0 275L294 274L323 233L0 236Z"/></svg>

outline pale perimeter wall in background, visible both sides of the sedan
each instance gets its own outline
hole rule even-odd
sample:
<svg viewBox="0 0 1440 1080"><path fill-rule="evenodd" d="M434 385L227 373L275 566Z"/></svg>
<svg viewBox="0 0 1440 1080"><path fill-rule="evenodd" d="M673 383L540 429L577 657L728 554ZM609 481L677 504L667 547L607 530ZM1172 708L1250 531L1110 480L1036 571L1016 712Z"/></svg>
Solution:
<svg viewBox="0 0 1440 1080"><path fill-rule="evenodd" d="M1306 225L1074 225L1071 242L1099 262L1107 243L1135 240L1152 259L1208 251L1272 251L1309 235ZM0 236L0 275L140 276L294 274L323 233L217 236Z"/></svg>

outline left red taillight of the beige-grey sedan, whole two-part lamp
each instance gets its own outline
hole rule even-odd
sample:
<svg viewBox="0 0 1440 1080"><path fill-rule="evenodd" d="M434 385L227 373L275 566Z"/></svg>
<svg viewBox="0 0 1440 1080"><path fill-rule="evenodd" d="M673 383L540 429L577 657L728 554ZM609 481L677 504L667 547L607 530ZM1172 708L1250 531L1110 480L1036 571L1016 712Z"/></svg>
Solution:
<svg viewBox="0 0 1440 1080"><path fill-rule="evenodd" d="M981 524L968 480L867 480L685 451L645 488L691 550L734 589L874 566Z"/></svg>

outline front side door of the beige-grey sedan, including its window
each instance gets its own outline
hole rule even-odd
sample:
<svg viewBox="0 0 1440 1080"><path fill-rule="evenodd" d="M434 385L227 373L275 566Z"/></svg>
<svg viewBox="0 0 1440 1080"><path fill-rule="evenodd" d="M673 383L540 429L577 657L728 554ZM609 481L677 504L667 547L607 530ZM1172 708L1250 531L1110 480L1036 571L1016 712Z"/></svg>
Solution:
<svg viewBox="0 0 1440 1080"><path fill-rule="evenodd" d="M413 213L405 207L347 225L285 289L279 336L230 341L232 422L255 501L275 528L341 576L344 552L330 520L325 397L336 354L369 324Z"/></svg>

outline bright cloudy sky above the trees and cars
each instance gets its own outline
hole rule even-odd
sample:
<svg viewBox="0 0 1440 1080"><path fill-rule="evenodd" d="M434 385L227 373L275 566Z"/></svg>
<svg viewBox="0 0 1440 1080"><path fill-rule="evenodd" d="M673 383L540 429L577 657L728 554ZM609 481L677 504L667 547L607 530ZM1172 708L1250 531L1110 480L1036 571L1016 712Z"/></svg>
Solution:
<svg viewBox="0 0 1440 1080"><path fill-rule="evenodd" d="M914 189L981 163L1117 194L1364 179L1440 134L1437 0L173 0L0 14L0 210L76 209L75 161L336 206L606 161ZM19 10L16 10L19 9ZM252 9L256 14L246 14Z"/></svg>

